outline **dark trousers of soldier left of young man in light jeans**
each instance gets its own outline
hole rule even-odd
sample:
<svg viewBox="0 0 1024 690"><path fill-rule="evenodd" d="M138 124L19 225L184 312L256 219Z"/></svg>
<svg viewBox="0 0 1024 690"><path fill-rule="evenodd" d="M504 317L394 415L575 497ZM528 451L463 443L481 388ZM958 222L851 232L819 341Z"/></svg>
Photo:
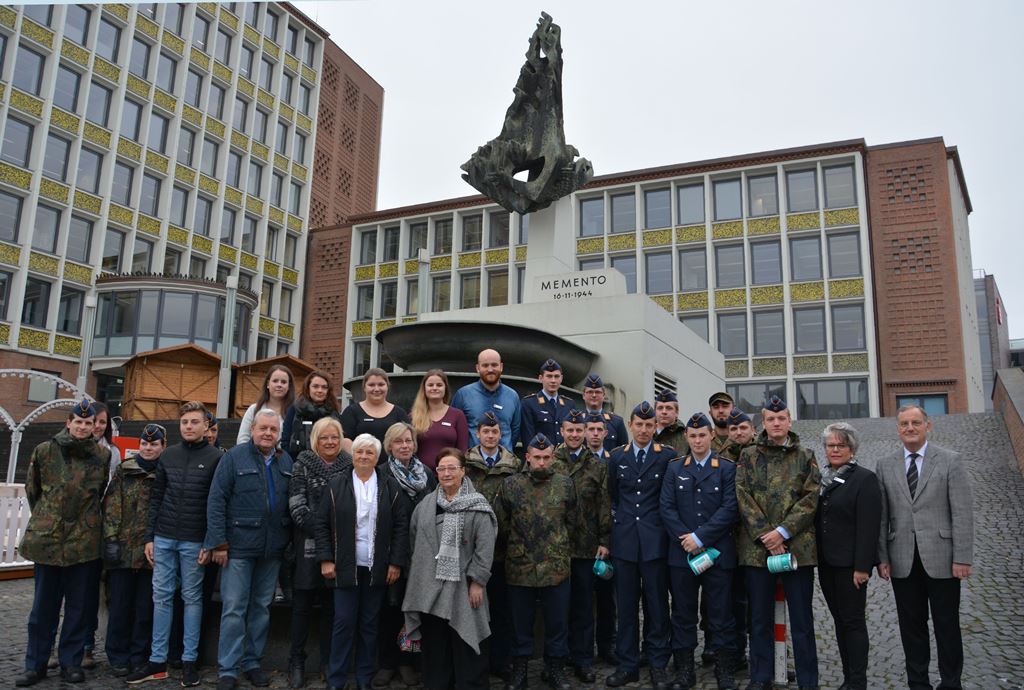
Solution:
<svg viewBox="0 0 1024 690"><path fill-rule="evenodd" d="M153 570L108 570L106 591L106 660L112 666L141 666L150 660L153 640Z"/></svg>

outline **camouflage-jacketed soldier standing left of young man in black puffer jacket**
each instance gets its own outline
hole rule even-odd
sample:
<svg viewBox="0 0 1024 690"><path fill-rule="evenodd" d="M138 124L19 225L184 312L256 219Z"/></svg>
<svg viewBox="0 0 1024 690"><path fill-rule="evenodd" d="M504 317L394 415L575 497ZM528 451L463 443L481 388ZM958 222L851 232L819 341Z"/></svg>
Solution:
<svg viewBox="0 0 1024 690"><path fill-rule="evenodd" d="M111 601L106 660L118 678L150 659L153 566L145 558L145 521L157 462L165 447L164 427L145 425L138 455L118 465L103 495L103 566Z"/></svg>

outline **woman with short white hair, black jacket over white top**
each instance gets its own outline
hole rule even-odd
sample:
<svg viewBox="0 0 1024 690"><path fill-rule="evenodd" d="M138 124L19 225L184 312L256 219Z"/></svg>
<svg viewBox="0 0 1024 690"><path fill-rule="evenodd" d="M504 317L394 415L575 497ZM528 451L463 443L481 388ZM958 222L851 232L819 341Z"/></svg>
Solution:
<svg viewBox="0 0 1024 690"><path fill-rule="evenodd" d="M356 688L370 688L384 593L409 563L410 502L386 467L377 469L379 455L380 441L356 436L352 471L328 483L316 513L316 558L335 588L328 687L339 690L353 645Z"/></svg>

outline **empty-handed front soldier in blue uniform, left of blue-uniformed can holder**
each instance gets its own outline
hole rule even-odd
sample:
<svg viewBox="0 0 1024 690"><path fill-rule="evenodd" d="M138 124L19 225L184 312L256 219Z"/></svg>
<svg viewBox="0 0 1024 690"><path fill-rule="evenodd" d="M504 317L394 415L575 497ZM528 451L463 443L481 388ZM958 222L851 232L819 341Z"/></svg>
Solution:
<svg viewBox="0 0 1024 690"><path fill-rule="evenodd" d="M654 408L644 400L630 415L633 440L611 451L608 494L611 497L611 558L615 566L615 599L620 611L618 669L605 679L608 687L640 680L639 609L643 598L644 649L650 660L654 690L668 690L670 626L668 533L658 505L662 481L675 455L653 441Z"/></svg>

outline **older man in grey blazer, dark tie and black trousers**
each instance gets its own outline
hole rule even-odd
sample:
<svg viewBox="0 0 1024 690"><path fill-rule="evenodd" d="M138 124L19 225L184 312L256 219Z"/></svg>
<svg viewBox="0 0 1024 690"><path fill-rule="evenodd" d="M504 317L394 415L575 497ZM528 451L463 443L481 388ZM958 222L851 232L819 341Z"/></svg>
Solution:
<svg viewBox="0 0 1024 690"><path fill-rule="evenodd" d="M961 580L971 576L974 514L959 454L929 444L932 423L918 405L896 414L903 449L878 465L882 486L879 575L892 577L911 690L928 678L928 610L939 656L939 690L961 686Z"/></svg>

